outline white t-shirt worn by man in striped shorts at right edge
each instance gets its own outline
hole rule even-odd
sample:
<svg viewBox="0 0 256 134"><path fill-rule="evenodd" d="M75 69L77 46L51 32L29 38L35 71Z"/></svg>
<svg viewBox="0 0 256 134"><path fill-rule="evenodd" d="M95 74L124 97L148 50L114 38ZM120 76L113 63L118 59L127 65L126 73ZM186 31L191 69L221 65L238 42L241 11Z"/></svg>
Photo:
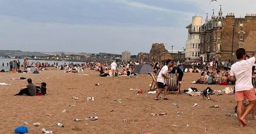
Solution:
<svg viewBox="0 0 256 134"><path fill-rule="evenodd" d="M237 61L231 66L230 76L236 77L236 91L246 91L252 86L252 66L255 63L255 57Z"/></svg>

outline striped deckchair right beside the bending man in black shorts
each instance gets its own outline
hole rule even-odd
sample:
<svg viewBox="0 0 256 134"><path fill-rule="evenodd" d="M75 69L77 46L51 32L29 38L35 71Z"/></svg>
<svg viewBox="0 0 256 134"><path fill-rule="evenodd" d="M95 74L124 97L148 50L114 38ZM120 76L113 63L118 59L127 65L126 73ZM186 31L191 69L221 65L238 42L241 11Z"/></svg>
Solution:
<svg viewBox="0 0 256 134"><path fill-rule="evenodd" d="M180 93L180 84L179 84L179 74L178 73L171 73L168 74L170 79L167 79L167 86L168 86L168 93Z"/></svg>

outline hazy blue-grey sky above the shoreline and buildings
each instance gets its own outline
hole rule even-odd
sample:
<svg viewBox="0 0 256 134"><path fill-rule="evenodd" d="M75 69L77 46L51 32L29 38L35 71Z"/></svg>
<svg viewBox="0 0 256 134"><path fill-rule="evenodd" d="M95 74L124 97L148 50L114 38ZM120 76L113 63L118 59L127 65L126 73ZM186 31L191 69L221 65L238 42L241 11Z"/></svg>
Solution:
<svg viewBox="0 0 256 134"><path fill-rule="evenodd" d="M193 15L256 13L255 0L0 0L0 49L31 52L182 50Z"/></svg>

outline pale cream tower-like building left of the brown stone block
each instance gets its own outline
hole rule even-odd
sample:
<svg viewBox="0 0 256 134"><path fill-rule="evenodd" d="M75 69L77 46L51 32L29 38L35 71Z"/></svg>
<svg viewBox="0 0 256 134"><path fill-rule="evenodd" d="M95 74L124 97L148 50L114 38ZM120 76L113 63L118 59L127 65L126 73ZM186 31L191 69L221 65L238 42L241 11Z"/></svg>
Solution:
<svg viewBox="0 0 256 134"><path fill-rule="evenodd" d="M186 61L198 61L200 59L200 32L203 17L194 16L188 29L188 40L186 41L185 59Z"/></svg>

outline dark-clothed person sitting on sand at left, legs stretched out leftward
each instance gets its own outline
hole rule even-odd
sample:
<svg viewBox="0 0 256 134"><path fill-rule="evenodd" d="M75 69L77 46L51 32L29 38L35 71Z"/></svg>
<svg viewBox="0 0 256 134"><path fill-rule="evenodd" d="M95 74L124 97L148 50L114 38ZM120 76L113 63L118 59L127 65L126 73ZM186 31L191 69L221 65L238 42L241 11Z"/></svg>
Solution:
<svg viewBox="0 0 256 134"><path fill-rule="evenodd" d="M28 96L36 95L36 86L32 83L31 78L28 78L28 85L26 87L22 87L20 92L15 94L15 96L20 96L22 94L27 94Z"/></svg>

